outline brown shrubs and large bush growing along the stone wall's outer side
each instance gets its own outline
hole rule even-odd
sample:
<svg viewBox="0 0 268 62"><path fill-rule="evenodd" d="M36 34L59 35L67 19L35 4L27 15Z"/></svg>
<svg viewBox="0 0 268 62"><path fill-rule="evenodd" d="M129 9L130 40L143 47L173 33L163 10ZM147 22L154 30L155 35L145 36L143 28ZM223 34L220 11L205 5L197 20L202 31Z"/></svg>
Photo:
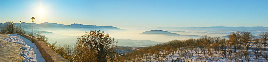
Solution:
<svg viewBox="0 0 268 62"><path fill-rule="evenodd" d="M87 34L77 38L74 47L69 45L56 46L57 42L50 44L47 42L47 38L40 32L37 33L36 37L41 38L42 42L70 62L105 62L107 61L105 57L107 57L106 55L108 54L114 55L110 60L113 62L118 61L116 57L118 53L115 52L117 42L115 42L113 38L110 38L109 34L96 30L86 33ZM100 56L101 58L98 58Z"/></svg>

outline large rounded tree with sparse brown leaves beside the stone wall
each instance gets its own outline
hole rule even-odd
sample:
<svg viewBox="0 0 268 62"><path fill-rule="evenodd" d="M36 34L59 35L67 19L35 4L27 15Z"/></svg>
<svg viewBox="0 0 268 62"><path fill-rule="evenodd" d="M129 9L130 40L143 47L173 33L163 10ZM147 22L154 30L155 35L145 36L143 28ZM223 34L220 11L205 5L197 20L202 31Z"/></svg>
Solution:
<svg viewBox="0 0 268 62"><path fill-rule="evenodd" d="M96 57L98 62L107 61L105 59L107 54L116 53L114 49L117 42L115 42L113 38L109 37L109 34L105 34L100 30L91 30L90 32L86 32L85 35L77 39L77 42L81 42L88 48L95 50L97 52Z"/></svg>

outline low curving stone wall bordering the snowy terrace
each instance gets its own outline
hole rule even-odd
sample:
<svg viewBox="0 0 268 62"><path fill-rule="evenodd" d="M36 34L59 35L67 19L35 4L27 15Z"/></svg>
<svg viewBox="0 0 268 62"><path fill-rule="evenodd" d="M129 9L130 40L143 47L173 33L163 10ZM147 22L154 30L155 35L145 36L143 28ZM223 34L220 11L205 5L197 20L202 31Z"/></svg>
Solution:
<svg viewBox="0 0 268 62"><path fill-rule="evenodd" d="M21 36L32 41L32 36L29 36L27 34L21 34ZM42 54L43 58L46 60L46 62L68 62L68 60L64 59L61 55L56 53L50 47L46 46L42 41L38 41L38 38L33 38L33 41L40 53Z"/></svg>

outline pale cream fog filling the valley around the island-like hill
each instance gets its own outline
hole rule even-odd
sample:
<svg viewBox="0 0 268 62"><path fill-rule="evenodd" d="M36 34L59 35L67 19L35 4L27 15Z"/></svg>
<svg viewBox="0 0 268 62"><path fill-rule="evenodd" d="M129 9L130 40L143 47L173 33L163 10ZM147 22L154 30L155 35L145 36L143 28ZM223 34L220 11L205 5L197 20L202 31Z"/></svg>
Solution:
<svg viewBox="0 0 268 62"><path fill-rule="evenodd" d="M177 33L181 35L208 35L208 36L226 36L228 34L208 34L208 33L192 33L189 32L172 32L174 29L137 29L137 28L128 28L124 30L106 30L106 29L75 29L75 28L41 28L42 31L52 32L52 33L42 33L46 36L50 43L56 42L58 45L71 45L73 46L76 42L76 38L85 34L85 31L91 30L101 30L105 33L110 34L111 38L114 39L132 39L132 40L150 40L155 42L168 42L171 40L184 40L189 38L199 38L199 37L189 37L189 36L166 36L166 35L157 35L157 34L140 34L149 30L165 30L171 33ZM175 29L176 30L176 29ZM184 30L186 31L186 30ZM120 41L118 41L120 42Z"/></svg>

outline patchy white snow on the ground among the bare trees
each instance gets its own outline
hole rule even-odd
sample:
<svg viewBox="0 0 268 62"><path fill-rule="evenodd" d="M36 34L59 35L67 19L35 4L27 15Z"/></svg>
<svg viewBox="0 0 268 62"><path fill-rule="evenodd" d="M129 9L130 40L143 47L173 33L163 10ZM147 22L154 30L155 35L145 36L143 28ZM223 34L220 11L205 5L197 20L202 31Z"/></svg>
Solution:
<svg viewBox="0 0 268 62"><path fill-rule="evenodd" d="M262 46L263 45L261 45L260 48L263 48ZM268 46L266 46L266 48L268 48ZM168 54L168 55L165 56L166 57L165 60L161 60L161 59L159 61L158 60L155 60L156 56L155 55L152 55L151 56L150 54L145 54L145 56L143 56L143 58L145 58L145 59L142 59L142 60L143 60L143 62L147 62L147 60L149 60L147 58L150 58L152 60L151 62L162 62L162 61L171 62L171 61L174 61L174 60L182 60L182 61L189 61L189 62L200 62L200 59L201 59L202 61L213 62L213 61L211 61L211 60L213 60L213 58L211 58L210 56L208 56L209 53L207 51L203 51L203 53L199 53L198 54L198 53L195 53L195 51L188 50L189 53L190 53L190 55L193 53L193 56L191 58L188 55L188 51L185 50L185 49L189 49L189 48L188 47L182 47L181 49L177 49L176 52L174 53L174 56L170 53L170 54ZM198 48L198 50L200 50L200 48ZM236 51L237 52L242 52L242 50L236 50ZM178 53L178 52L180 52L180 53ZM182 55L181 52L183 52L184 54ZM204 52L205 52L205 54L204 54ZM217 52L218 54L216 54L214 50L212 50L211 52L213 53L214 59L217 58L217 62L231 62L231 61L235 61L235 53L232 54L232 60L230 60L229 55L228 55L228 52L226 54L226 57L224 57L224 55L222 55L222 54L219 54L219 53L222 53L222 52ZM268 51L265 50L263 52L268 52ZM167 52L162 52L161 51L160 52L160 58L163 58L162 55L165 54L165 53L167 54ZM262 57L262 56L259 56L257 59L255 59L254 51L252 51L252 49L249 49L248 50L248 53L249 53L249 55L248 55L249 62L266 62L265 58ZM146 57L146 55L148 55L148 56ZM208 58L205 58L204 55L206 55ZM182 58L182 59L180 59L180 58ZM244 56L243 56L243 59L242 60L248 62L245 59ZM241 59L238 59L239 62L242 61L242 60ZM179 62L179 61L175 61L175 62Z"/></svg>

